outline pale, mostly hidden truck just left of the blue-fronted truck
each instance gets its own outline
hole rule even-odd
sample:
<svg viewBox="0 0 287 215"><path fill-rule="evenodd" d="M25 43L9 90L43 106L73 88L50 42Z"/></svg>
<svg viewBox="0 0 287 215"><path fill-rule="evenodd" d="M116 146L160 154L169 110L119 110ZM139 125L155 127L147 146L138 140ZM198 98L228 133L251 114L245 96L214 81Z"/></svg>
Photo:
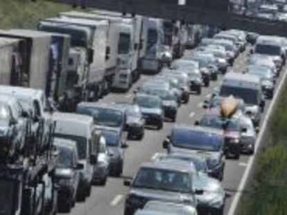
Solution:
<svg viewBox="0 0 287 215"><path fill-rule="evenodd" d="M141 62L140 59L143 57L144 48L146 47L146 28L144 28L144 22L146 22L147 18L139 15L123 15L120 12L110 12L106 10L93 10L92 13L96 15L119 17L125 24L130 26L132 32L131 37L129 38L131 41L130 51L128 53L129 60L126 61L127 57L124 57L125 60L121 59L121 64L132 65L132 80L133 82L136 82L140 77L139 63ZM125 39L128 40L127 35L125 37Z"/></svg>

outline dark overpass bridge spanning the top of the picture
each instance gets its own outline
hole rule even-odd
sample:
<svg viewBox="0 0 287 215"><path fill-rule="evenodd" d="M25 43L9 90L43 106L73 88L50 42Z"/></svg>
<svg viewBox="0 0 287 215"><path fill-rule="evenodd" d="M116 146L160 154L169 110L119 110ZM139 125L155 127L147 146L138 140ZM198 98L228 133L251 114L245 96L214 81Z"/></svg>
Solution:
<svg viewBox="0 0 287 215"><path fill-rule="evenodd" d="M191 24L240 29L263 35L287 36L287 23L230 12L228 0L47 0L72 6L146 15ZM244 0L247 1L247 0ZM179 3L182 3L179 4Z"/></svg>

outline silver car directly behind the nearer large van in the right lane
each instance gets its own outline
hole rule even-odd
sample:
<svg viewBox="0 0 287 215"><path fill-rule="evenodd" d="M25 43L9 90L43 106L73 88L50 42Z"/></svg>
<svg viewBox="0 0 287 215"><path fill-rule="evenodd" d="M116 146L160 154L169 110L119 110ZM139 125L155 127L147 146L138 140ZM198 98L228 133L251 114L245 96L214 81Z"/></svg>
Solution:
<svg viewBox="0 0 287 215"><path fill-rule="evenodd" d="M266 98L272 99L275 90L275 77L272 70L266 66L248 65L247 73L261 78L263 93Z"/></svg>

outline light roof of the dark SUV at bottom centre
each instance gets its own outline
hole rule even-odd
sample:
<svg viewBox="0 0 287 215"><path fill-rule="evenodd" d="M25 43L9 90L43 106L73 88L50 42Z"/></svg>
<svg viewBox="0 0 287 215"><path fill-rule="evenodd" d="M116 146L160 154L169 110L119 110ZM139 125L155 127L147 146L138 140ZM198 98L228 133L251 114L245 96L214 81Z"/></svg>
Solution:
<svg viewBox="0 0 287 215"><path fill-rule="evenodd" d="M154 162L143 163L141 167L193 173L192 164L184 160L178 160L178 162L174 162L174 160L156 160ZM193 169L195 169L195 167L193 167Z"/></svg>

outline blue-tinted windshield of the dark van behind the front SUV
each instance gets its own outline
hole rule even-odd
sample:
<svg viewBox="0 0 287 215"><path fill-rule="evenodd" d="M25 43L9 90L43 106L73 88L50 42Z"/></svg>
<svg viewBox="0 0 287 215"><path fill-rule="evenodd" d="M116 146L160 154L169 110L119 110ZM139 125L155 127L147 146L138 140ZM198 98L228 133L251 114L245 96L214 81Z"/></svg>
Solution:
<svg viewBox="0 0 287 215"><path fill-rule="evenodd" d="M171 135L174 147L200 151L219 151L222 141L223 138L220 135L189 129L178 129Z"/></svg>

